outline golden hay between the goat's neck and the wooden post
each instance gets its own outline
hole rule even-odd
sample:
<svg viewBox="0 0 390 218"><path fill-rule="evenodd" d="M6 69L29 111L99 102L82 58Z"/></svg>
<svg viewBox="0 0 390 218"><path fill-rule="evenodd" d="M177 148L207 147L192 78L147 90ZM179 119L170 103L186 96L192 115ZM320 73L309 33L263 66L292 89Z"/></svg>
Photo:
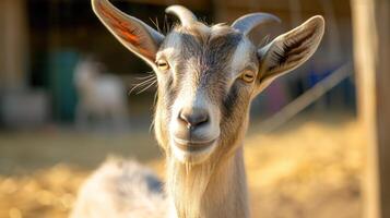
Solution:
<svg viewBox="0 0 390 218"><path fill-rule="evenodd" d="M247 141L253 217L361 217L364 138L357 123L306 123Z"/></svg>

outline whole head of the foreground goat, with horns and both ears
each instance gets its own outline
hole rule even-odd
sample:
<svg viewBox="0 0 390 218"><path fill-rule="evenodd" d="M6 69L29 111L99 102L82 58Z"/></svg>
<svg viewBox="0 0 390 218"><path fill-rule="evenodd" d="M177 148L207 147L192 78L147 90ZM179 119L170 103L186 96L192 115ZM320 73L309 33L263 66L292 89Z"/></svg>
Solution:
<svg viewBox="0 0 390 218"><path fill-rule="evenodd" d="M97 16L123 46L157 74L155 132L168 156L200 164L232 154L248 123L251 99L274 78L304 63L317 49L324 22L314 16L264 47L248 34L279 22L271 14L241 16L232 26L206 26L186 8L166 36L126 15L107 0L92 0Z"/></svg>

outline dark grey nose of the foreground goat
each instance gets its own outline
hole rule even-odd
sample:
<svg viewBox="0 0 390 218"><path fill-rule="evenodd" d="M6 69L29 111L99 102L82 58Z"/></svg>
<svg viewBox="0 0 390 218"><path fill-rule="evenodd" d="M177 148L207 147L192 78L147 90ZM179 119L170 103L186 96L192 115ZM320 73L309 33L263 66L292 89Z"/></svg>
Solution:
<svg viewBox="0 0 390 218"><path fill-rule="evenodd" d="M188 128L197 128L209 122L209 112L203 108L185 108L179 113L179 120Z"/></svg>

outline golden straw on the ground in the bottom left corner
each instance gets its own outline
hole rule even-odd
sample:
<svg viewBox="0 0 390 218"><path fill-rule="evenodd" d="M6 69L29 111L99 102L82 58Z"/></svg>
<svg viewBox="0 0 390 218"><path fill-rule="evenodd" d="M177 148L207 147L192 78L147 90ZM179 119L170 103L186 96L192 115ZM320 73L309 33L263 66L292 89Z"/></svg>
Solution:
<svg viewBox="0 0 390 218"><path fill-rule="evenodd" d="M86 175L58 165L31 175L0 177L0 217L68 217Z"/></svg>

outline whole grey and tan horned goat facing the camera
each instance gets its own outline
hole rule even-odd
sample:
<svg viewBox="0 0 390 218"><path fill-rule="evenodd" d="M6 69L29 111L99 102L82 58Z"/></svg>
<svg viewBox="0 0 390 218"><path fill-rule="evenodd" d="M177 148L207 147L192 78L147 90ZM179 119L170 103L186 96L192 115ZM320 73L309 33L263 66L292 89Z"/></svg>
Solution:
<svg viewBox="0 0 390 218"><path fill-rule="evenodd" d="M92 0L92 4L115 37L155 71L154 131L166 156L166 197L156 201L147 189L141 189L145 197L121 192L123 185L134 190L144 186L144 181L131 179L135 169L126 170L121 165L109 170L106 166L110 164L105 164L81 190L88 190L95 201L88 194L80 195L72 216L250 217L243 141L251 100L316 51L323 19L314 16L258 47L248 35L259 29L255 27L279 21L271 14L252 13L231 26L208 26L186 8L173 5L166 12L178 16L181 25L164 36L107 0ZM145 208L155 211L143 214Z"/></svg>

